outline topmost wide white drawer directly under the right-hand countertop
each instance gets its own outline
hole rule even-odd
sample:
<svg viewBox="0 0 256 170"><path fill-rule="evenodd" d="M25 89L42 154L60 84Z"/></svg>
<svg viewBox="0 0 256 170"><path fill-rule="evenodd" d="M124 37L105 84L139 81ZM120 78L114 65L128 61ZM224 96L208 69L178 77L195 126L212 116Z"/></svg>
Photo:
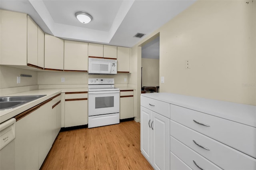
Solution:
<svg viewBox="0 0 256 170"><path fill-rule="evenodd" d="M172 120L256 158L256 128L171 105ZM209 125L195 123L193 120Z"/></svg>

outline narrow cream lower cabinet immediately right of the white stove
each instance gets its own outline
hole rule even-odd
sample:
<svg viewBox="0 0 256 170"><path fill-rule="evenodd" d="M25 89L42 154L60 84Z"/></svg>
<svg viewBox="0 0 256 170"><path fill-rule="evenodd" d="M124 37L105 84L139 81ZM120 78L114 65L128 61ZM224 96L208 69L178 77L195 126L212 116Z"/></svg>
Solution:
<svg viewBox="0 0 256 170"><path fill-rule="evenodd" d="M120 90L120 119L134 117L133 90Z"/></svg>

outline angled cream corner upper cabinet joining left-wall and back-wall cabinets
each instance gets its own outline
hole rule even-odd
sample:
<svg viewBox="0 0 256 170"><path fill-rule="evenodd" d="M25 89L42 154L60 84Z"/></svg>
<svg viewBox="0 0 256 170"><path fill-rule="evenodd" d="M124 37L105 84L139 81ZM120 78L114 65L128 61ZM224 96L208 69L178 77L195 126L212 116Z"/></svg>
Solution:
<svg viewBox="0 0 256 170"><path fill-rule="evenodd" d="M64 69L64 40L45 34L44 67L45 69Z"/></svg>

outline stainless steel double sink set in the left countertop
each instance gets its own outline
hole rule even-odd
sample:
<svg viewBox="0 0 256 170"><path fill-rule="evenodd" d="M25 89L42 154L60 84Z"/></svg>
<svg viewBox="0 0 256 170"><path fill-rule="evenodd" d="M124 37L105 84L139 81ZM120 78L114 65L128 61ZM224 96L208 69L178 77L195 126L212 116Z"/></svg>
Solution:
<svg viewBox="0 0 256 170"><path fill-rule="evenodd" d="M0 110L13 109L46 95L0 97Z"/></svg>

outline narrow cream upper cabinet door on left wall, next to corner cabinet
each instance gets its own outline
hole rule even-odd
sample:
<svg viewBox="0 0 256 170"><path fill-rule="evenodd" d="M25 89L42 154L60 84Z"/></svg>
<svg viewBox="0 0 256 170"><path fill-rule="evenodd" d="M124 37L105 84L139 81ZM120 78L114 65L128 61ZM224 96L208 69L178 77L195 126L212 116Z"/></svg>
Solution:
<svg viewBox="0 0 256 170"><path fill-rule="evenodd" d="M37 66L44 68L44 32L38 27Z"/></svg>

